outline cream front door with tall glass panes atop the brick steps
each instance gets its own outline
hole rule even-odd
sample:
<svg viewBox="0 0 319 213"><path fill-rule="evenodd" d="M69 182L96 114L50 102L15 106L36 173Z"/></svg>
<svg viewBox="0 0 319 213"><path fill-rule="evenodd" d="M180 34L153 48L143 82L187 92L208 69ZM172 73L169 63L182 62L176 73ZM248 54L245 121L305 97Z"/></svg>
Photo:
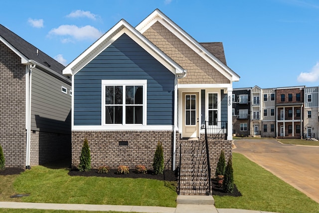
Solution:
<svg viewBox="0 0 319 213"><path fill-rule="evenodd" d="M198 92L183 93L183 138L199 136L198 96Z"/></svg>

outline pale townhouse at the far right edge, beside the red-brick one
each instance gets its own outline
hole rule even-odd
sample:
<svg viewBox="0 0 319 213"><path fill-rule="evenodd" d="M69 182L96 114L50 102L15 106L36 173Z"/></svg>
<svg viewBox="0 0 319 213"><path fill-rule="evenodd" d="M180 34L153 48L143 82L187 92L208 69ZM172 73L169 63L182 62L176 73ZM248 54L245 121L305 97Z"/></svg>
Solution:
<svg viewBox="0 0 319 213"><path fill-rule="evenodd" d="M305 88L303 138L319 139L319 87Z"/></svg>

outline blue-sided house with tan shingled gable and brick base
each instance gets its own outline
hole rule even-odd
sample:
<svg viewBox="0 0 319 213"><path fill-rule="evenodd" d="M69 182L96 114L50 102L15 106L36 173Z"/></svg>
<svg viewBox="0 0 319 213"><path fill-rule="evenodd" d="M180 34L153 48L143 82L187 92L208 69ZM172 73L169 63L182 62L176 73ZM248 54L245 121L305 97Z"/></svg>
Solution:
<svg viewBox="0 0 319 213"><path fill-rule="evenodd" d="M73 81L73 167L85 138L93 168L152 168L158 141L164 161L174 161L183 138L203 138L205 121L216 133L229 132L211 144L214 163L221 149L231 156L232 83L239 76L221 43L198 43L158 9L135 28L119 21L63 74Z"/></svg>

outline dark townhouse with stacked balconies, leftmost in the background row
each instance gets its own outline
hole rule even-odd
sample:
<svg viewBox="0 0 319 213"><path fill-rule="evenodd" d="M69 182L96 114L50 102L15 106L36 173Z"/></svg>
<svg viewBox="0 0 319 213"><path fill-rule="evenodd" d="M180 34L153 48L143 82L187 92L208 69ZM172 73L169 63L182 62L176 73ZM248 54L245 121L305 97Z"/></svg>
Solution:
<svg viewBox="0 0 319 213"><path fill-rule="evenodd" d="M237 137L247 137L250 135L251 89L251 87L233 89L233 134Z"/></svg>

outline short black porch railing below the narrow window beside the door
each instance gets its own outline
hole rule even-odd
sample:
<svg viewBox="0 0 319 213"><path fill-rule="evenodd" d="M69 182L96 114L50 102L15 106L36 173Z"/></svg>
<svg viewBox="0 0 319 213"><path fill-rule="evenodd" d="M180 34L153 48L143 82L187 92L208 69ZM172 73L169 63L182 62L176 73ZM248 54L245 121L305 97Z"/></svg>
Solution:
<svg viewBox="0 0 319 213"><path fill-rule="evenodd" d="M207 134L207 138L223 138L227 140L227 132L227 121L205 121L205 134Z"/></svg>

